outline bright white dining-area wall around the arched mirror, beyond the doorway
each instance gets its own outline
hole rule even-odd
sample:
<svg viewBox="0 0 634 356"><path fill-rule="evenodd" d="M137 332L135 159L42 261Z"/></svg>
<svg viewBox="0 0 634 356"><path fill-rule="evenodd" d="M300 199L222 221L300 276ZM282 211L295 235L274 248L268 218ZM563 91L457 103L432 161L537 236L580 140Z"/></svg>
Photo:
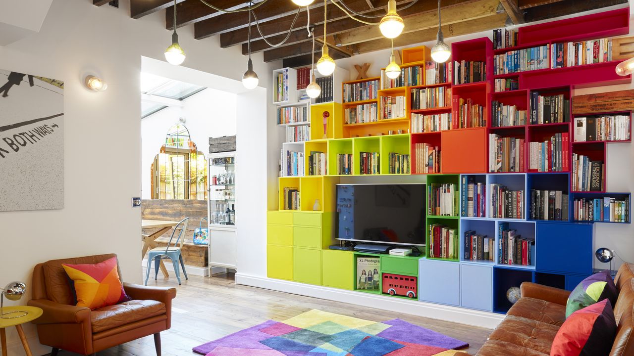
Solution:
<svg viewBox="0 0 634 356"><path fill-rule="evenodd" d="M165 144L165 134L179 118L185 119L198 151L209 153L209 137L236 134L236 94L207 88L183 100L183 108L169 106L141 120L141 198L152 198L154 157Z"/></svg>

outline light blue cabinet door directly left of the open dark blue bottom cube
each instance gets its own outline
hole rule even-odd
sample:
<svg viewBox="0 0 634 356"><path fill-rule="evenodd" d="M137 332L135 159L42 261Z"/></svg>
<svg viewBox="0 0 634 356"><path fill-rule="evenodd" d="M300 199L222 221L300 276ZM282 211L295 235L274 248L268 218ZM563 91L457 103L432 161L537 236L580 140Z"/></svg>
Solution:
<svg viewBox="0 0 634 356"><path fill-rule="evenodd" d="M462 264L460 270L462 307L493 310L493 267Z"/></svg>

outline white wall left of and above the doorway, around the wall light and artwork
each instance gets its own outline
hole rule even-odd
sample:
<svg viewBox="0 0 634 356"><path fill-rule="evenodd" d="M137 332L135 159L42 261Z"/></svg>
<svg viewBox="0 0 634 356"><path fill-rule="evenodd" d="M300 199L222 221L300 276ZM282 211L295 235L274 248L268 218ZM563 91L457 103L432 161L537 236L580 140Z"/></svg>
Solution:
<svg viewBox="0 0 634 356"><path fill-rule="evenodd" d="M16 3L0 0L0 8L11 9ZM247 58L240 46L221 49L218 37L196 41L192 26L179 29L179 35L187 54L183 66L230 79L216 77L216 89L235 94L245 91L239 80ZM112 252L119 255L124 279L141 281L141 210L131 208L131 197L141 195L144 169L140 155L141 56L162 61L170 42L164 11L133 20L127 0L120 1L120 9L98 8L87 0L55 0L39 33L0 47L0 68L65 81L65 208L0 213L0 284L15 279L30 284L32 268L38 262ZM254 56L254 70L266 86L271 69L280 63L264 64L261 58L261 54ZM178 68L174 70L178 72ZM105 79L108 90L84 89L82 80L88 73ZM197 77L200 75L185 73L173 79L198 84ZM214 83L202 85L214 87ZM254 99L265 102L263 95ZM259 127L250 132L251 121L266 122L264 111L254 113L242 126L246 144L249 135L259 138L260 146L254 151L262 159L267 155L266 130ZM245 177L261 179L262 187L266 184L262 172L250 172L249 166L244 169ZM10 167L3 167L0 161L0 170L10 171ZM257 201L257 196L249 199L254 207L261 207L254 220L261 219L259 234L264 239L266 201ZM25 331L34 354L50 352L37 345L34 327L27 325ZM8 341L11 355L23 354L12 329Z"/></svg>

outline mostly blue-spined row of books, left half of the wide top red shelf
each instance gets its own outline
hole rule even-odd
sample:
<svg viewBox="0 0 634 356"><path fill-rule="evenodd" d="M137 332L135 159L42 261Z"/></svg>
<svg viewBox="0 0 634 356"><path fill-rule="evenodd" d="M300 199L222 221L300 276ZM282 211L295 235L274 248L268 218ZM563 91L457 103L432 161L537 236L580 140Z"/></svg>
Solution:
<svg viewBox="0 0 634 356"><path fill-rule="evenodd" d="M493 73L508 74L548 68L548 44L493 56Z"/></svg>

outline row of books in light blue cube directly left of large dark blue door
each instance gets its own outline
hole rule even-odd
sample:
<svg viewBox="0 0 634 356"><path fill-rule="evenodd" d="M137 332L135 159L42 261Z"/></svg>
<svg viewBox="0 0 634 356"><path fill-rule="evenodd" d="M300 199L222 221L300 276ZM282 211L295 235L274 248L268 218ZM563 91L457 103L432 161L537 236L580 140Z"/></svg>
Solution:
<svg viewBox="0 0 634 356"><path fill-rule="evenodd" d="M508 222L498 226L498 264L533 265L534 238L522 238L517 230L508 229Z"/></svg>

